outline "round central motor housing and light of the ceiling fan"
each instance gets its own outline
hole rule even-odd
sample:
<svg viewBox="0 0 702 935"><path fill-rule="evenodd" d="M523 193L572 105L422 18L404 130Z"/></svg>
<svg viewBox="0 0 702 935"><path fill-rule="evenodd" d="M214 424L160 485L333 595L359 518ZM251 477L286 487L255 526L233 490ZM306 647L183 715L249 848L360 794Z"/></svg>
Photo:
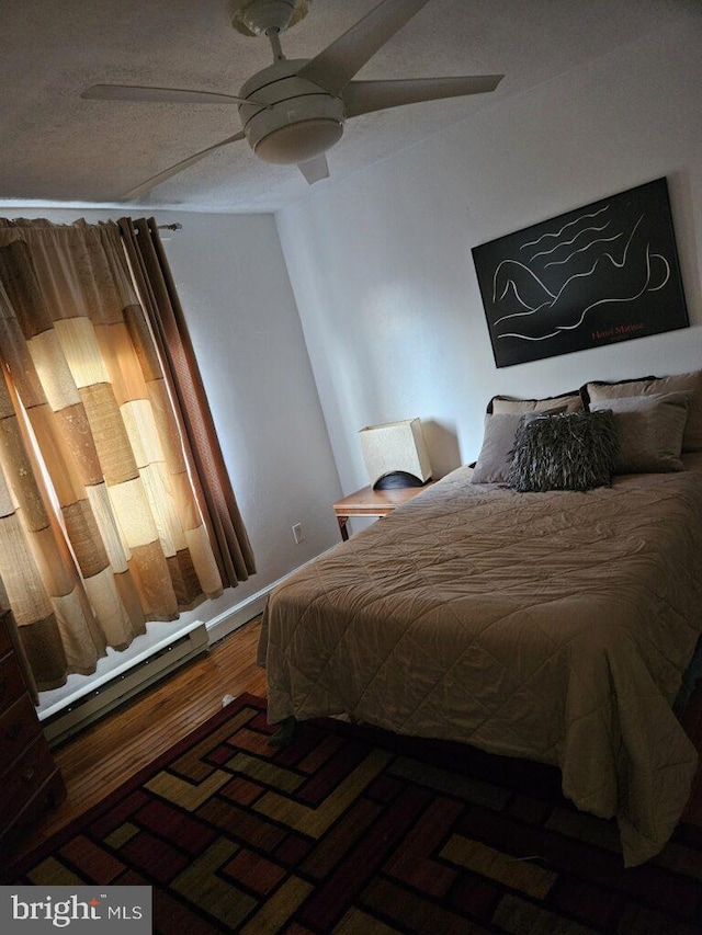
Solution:
<svg viewBox="0 0 702 935"><path fill-rule="evenodd" d="M256 104L239 104L239 116L249 146L264 162L307 162L341 139L343 102L297 77L306 64L307 59L275 61L239 91L239 96L257 100Z"/></svg>

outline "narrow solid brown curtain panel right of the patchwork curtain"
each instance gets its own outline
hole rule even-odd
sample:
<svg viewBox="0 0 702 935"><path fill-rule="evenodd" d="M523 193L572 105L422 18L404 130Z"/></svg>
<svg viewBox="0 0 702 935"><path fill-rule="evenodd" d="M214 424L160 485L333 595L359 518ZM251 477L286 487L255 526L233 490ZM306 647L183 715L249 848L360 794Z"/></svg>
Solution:
<svg viewBox="0 0 702 935"><path fill-rule="evenodd" d="M256 571L253 552L231 489L158 226L154 218L122 218L118 224L132 274L163 361L185 456L204 503L203 515L217 568L225 586L235 585Z"/></svg>

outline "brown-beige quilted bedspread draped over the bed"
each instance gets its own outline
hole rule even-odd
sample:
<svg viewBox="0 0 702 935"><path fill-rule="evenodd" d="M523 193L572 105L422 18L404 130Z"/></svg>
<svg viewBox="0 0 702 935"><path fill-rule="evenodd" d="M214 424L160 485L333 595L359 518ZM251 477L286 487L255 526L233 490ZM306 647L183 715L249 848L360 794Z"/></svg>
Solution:
<svg viewBox="0 0 702 935"><path fill-rule="evenodd" d="M449 475L272 593L270 720L348 714L557 764L646 860L697 765L671 710L702 629L702 455L686 465L588 493Z"/></svg>

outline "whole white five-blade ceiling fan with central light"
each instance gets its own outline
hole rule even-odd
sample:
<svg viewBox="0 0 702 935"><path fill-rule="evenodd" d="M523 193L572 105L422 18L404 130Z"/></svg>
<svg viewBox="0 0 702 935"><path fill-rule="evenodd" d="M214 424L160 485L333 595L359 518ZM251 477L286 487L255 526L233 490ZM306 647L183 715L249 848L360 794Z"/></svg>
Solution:
<svg viewBox="0 0 702 935"><path fill-rule="evenodd" d="M306 15L312 0L234 0L233 25L265 35L273 65L258 71L238 95L181 88L94 84L82 98L100 101L237 104L242 129L152 175L125 193L138 197L223 146L246 139L264 162L297 164L313 184L329 175L325 153L341 139L347 119L404 104L494 91L502 75L352 81L354 75L429 0L382 0L312 59L286 59L280 34Z"/></svg>

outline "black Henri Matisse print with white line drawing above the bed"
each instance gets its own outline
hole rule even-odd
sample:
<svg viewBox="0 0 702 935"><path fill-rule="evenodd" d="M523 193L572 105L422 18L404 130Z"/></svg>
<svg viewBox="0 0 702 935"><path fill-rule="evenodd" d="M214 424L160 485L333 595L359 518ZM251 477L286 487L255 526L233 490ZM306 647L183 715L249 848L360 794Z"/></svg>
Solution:
<svg viewBox="0 0 702 935"><path fill-rule="evenodd" d="M498 367L689 327L666 179L472 252Z"/></svg>

